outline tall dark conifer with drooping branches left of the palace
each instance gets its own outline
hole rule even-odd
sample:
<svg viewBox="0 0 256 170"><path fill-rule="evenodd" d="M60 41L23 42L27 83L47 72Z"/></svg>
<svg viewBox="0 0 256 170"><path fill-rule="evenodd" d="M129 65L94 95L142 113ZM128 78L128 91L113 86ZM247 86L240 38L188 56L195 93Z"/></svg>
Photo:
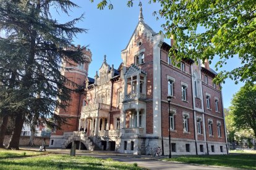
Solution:
<svg viewBox="0 0 256 170"><path fill-rule="evenodd" d="M78 6L68 0L0 1L0 32L5 33L0 37L0 85L1 93L9 94L1 102L9 103L4 108L8 115L14 115L14 129L7 148L19 149L20 132L26 119L32 121L38 116L38 120L51 127L65 123L54 112L55 108L66 108L70 99L71 89L65 86L67 79L61 75L61 63L84 62L83 49L74 47L72 39L86 30L75 27L83 15L58 23L51 17L50 9L68 15L72 7ZM13 72L15 86L10 87Z"/></svg>

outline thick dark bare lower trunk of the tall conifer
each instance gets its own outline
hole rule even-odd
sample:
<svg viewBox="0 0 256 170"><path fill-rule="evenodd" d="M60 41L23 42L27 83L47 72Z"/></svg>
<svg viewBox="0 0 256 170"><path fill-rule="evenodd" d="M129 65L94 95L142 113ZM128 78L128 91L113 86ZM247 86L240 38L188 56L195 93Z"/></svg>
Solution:
<svg viewBox="0 0 256 170"><path fill-rule="evenodd" d="M20 133L22 132L24 121L25 121L24 114L18 113L15 118L14 130L12 131L12 136L7 149L19 150Z"/></svg>

